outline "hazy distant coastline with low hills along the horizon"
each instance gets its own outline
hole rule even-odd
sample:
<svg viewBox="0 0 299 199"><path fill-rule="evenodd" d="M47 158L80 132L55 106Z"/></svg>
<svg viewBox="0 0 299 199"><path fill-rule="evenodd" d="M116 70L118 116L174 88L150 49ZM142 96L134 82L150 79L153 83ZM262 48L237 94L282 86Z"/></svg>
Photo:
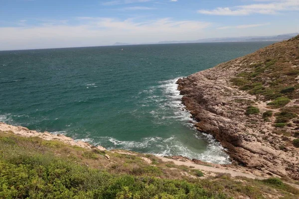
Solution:
<svg viewBox="0 0 299 199"><path fill-rule="evenodd" d="M250 41L283 41L297 36L299 33L282 34L274 36L245 36L245 37L222 37L222 38L207 38L198 40L183 40L183 41L159 41L156 43L122 43L116 42L115 46L136 45L136 44L171 44L171 43L205 43L205 42L250 42Z"/></svg>

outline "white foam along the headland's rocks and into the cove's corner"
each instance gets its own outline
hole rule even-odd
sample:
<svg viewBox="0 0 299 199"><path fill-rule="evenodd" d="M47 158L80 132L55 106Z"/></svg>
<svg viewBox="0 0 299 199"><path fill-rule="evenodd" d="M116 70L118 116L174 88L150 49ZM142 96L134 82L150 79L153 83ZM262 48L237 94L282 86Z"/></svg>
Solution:
<svg viewBox="0 0 299 199"><path fill-rule="evenodd" d="M194 130L194 134L190 135L194 136L194 139L205 140L208 143L207 149L202 153L196 153L188 149L188 147L181 143L180 140L178 140L177 138L170 137L164 140L158 140L158 142L156 143L152 143L152 146L153 144L155 144L155 147L160 149L160 151L152 151L151 153L160 156L181 155L190 159L195 158L211 163L230 164L229 156L224 152L224 148L220 145L220 143L217 142L212 135L198 132L195 129L193 125L194 121L191 118L190 112L187 111L185 109L185 106L181 103L182 96L180 95L180 92L177 90L176 84L178 79L179 78L161 81L159 82L158 86L150 87L149 90L145 90L139 93L150 95L146 97L142 101L142 103L146 105L156 103L158 105L158 109L149 111L152 117L155 118L155 124L171 125L171 123L175 121L180 122L183 125ZM162 95L157 95L157 91L160 91ZM144 140L142 140L141 142L144 142ZM137 144L138 146L142 147L150 147L150 143L147 142L118 143L126 146L129 150L131 148L136 148L134 147L134 144Z"/></svg>

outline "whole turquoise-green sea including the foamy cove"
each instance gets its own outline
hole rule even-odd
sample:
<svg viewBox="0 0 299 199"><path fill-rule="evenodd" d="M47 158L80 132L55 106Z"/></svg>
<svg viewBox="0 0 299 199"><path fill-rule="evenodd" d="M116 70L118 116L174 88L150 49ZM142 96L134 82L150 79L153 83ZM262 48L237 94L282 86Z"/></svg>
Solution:
<svg viewBox="0 0 299 199"><path fill-rule="evenodd" d="M1 51L0 121L109 149L229 163L219 143L189 123L175 81L269 44Z"/></svg>

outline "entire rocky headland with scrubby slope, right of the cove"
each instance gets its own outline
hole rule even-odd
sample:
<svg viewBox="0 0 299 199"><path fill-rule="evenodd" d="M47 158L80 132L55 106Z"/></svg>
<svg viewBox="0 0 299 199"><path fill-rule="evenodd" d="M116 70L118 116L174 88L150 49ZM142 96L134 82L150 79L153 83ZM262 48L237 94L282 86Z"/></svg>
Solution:
<svg viewBox="0 0 299 199"><path fill-rule="evenodd" d="M294 144L299 129L296 113L299 110L296 95L299 71L292 75L284 72L297 67L298 47L299 37L177 81L183 95L182 103L190 110L196 128L220 141L228 149L233 164L268 175L299 179L299 150ZM275 62L271 61L274 59ZM256 65L260 72L252 75L257 73ZM269 82L280 83L267 86ZM257 86L264 93L254 93ZM282 91L290 86L294 89L284 94ZM269 93L275 97L267 96ZM287 104L274 106L269 103L282 98L288 100ZM292 117L277 122L281 118L279 115L290 112Z"/></svg>

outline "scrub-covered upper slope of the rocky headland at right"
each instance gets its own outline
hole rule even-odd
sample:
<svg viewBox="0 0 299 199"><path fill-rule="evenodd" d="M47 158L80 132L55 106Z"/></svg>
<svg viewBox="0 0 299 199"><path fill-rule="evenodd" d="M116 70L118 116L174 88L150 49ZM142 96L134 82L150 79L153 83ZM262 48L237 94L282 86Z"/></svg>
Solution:
<svg viewBox="0 0 299 199"><path fill-rule="evenodd" d="M261 114L265 121L274 117L274 133L299 137L299 35L247 55L241 64L231 79L233 85L257 100L268 101L268 108L276 113L269 110ZM258 109L252 111L257 107L248 105L248 114L259 114ZM290 144L299 147L299 139L290 139Z"/></svg>

